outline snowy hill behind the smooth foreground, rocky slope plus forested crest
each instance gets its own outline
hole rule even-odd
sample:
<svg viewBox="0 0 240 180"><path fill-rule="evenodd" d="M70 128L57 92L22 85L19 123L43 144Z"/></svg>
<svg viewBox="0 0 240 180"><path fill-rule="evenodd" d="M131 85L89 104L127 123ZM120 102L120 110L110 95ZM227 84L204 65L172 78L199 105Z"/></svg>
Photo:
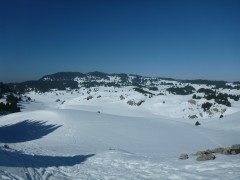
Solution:
<svg viewBox="0 0 240 180"><path fill-rule="evenodd" d="M144 112L158 117L204 119L240 111L238 82L62 72L15 84L14 90L38 103L31 106L47 101L52 107L84 110L91 106L93 111L117 115L135 116L138 112L142 116ZM118 111L119 106L123 112Z"/></svg>

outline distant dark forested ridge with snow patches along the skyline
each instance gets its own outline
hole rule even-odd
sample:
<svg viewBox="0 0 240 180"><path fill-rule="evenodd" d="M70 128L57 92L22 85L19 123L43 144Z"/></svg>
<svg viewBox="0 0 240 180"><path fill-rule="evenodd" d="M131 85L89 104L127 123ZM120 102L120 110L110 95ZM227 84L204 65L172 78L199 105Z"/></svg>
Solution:
<svg viewBox="0 0 240 180"><path fill-rule="evenodd" d="M39 80L25 81L22 83L11 83L9 84L12 89L18 92L26 92L29 90L36 90L46 92L51 89L66 90L66 89L78 89L79 87L122 87L122 86L134 86L134 87L146 87L157 89L157 86L164 85L170 90L178 91L176 85L191 86L192 84L204 84L212 86L216 89L219 88L237 88L240 89L240 84L235 82L234 87L229 86L226 81L211 81L211 80L177 80L173 78L162 78L162 77L146 77L136 74L125 74L125 73L104 73L99 71L93 71L88 73L81 72L57 72L49 75L45 75ZM176 86L176 87L175 87ZM189 87L187 87L189 90ZM190 88L191 89L191 88ZM187 90L187 91L188 91ZM194 92L194 91L189 91ZM187 93L187 94L188 94Z"/></svg>

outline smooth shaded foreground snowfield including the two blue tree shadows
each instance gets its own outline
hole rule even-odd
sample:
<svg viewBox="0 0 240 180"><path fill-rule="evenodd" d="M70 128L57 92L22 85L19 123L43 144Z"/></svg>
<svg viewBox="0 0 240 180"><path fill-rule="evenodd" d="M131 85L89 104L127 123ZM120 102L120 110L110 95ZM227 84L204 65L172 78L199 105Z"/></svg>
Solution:
<svg viewBox="0 0 240 180"><path fill-rule="evenodd" d="M31 97L24 112L0 117L0 179L240 179L240 155L193 155L239 144L239 112L196 127L107 95L82 104L71 94ZM190 158L179 160L182 153Z"/></svg>

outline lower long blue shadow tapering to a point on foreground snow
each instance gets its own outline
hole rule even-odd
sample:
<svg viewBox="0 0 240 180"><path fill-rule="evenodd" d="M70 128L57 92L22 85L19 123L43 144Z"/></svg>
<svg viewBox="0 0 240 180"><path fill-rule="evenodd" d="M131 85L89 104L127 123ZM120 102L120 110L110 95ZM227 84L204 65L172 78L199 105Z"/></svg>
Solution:
<svg viewBox="0 0 240 180"><path fill-rule="evenodd" d="M47 168L59 166L74 166L86 161L89 155L76 156L44 156L23 154L20 151L0 149L0 166L4 167L25 167L25 168Z"/></svg>

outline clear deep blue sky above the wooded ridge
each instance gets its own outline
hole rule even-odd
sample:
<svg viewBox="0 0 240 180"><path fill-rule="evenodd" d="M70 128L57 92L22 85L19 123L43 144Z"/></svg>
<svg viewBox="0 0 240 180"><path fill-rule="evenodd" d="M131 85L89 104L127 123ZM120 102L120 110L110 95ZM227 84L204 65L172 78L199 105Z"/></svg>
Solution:
<svg viewBox="0 0 240 180"><path fill-rule="evenodd" d="M60 71L240 80L240 0L0 0L0 82Z"/></svg>

